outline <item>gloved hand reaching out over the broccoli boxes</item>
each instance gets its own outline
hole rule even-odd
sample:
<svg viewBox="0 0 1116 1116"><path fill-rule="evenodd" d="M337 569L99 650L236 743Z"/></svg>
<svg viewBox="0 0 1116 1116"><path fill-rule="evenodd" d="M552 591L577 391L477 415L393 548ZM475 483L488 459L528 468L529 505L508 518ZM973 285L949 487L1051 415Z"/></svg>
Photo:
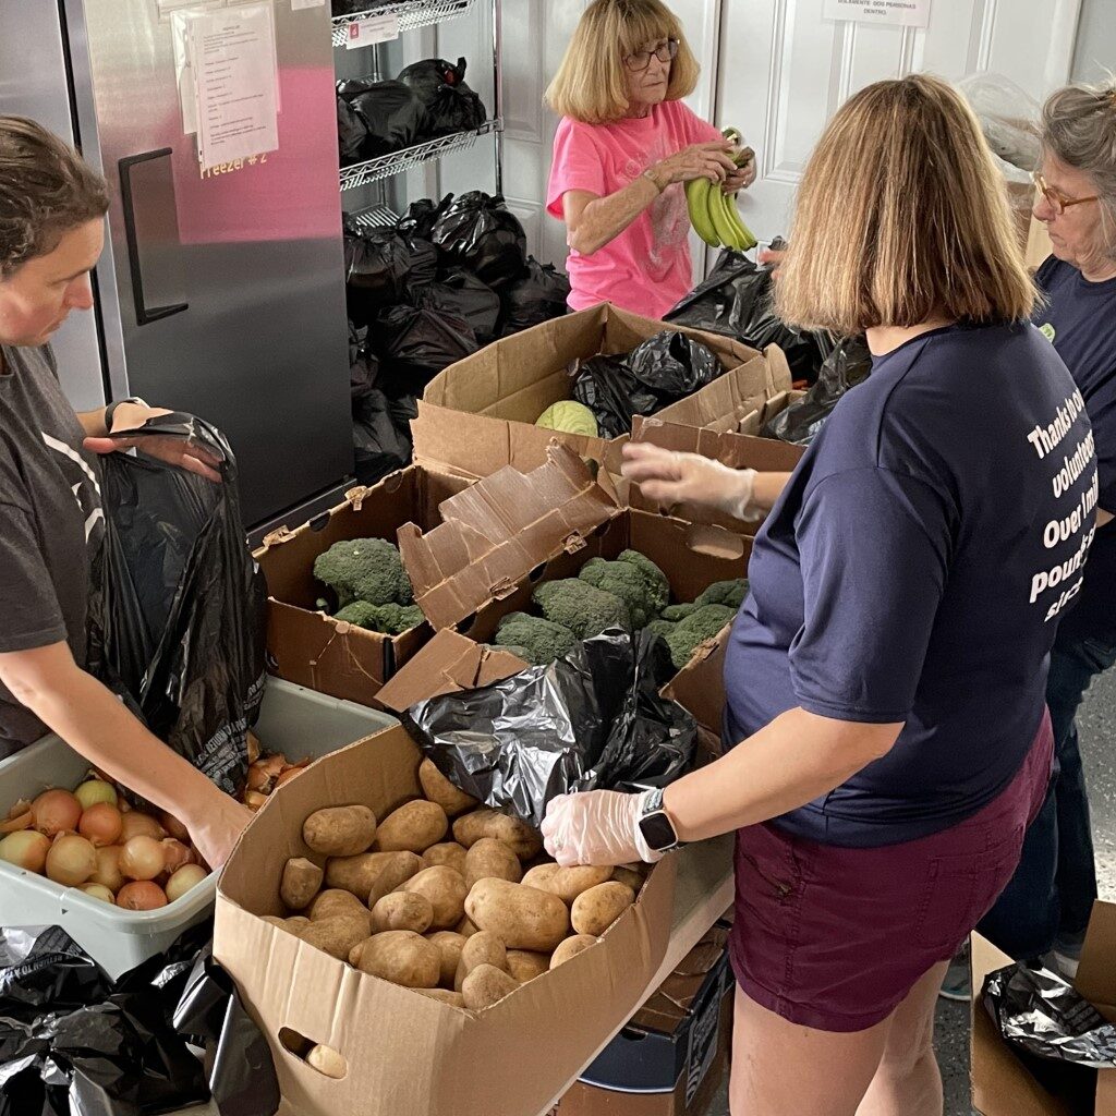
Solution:
<svg viewBox="0 0 1116 1116"><path fill-rule="evenodd" d="M752 503L754 469L730 469L700 453L677 453L648 442L624 446L620 472L648 500L664 504L701 503L735 519L762 519Z"/></svg>

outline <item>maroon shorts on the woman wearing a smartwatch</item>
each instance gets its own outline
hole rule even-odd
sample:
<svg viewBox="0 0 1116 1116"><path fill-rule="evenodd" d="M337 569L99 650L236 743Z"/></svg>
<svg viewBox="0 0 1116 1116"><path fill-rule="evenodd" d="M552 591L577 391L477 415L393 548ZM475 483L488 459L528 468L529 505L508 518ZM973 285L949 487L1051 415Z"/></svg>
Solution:
<svg viewBox="0 0 1116 1116"><path fill-rule="evenodd" d="M960 949L1008 885L1050 781L1049 714L1019 775L960 825L839 848L771 825L737 834L730 950L743 991L783 1019L859 1031L886 1019Z"/></svg>

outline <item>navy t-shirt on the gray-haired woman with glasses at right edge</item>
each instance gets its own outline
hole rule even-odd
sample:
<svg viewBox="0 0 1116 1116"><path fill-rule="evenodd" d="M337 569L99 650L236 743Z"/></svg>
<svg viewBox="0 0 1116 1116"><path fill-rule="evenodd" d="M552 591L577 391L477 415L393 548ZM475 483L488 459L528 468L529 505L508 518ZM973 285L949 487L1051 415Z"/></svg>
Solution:
<svg viewBox="0 0 1116 1116"><path fill-rule="evenodd" d="M1116 512L1116 279L1089 282L1051 256L1036 282L1048 305L1036 315L1085 400L1097 444L1100 507ZM1097 531L1077 604L1061 622L1061 638L1116 638L1116 522Z"/></svg>

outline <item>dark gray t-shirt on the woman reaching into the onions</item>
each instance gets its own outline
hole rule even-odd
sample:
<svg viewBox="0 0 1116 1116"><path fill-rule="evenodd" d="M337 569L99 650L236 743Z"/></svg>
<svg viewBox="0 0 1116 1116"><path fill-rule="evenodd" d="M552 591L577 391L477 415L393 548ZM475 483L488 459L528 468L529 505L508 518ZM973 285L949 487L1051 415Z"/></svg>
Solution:
<svg viewBox="0 0 1116 1116"><path fill-rule="evenodd" d="M0 652L65 639L84 666L90 559L105 535L99 466L49 346L0 353ZM46 731L0 685L0 758Z"/></svg>

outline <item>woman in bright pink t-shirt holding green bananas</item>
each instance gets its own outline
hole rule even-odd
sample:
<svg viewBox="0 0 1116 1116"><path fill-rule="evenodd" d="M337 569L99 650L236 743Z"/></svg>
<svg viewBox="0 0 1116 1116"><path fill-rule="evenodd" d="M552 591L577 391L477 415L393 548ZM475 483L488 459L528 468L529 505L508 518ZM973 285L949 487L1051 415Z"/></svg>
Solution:
<svg viewBox="0 0 1116 1116"><path fill-rule="evenodd" d="M660 318L693 286L683 184L735 193L756 177L682 104L698 84L682 26L660 0L594 0L547 90L561 114L547 212L565 220L569 305Z"/></svg>

